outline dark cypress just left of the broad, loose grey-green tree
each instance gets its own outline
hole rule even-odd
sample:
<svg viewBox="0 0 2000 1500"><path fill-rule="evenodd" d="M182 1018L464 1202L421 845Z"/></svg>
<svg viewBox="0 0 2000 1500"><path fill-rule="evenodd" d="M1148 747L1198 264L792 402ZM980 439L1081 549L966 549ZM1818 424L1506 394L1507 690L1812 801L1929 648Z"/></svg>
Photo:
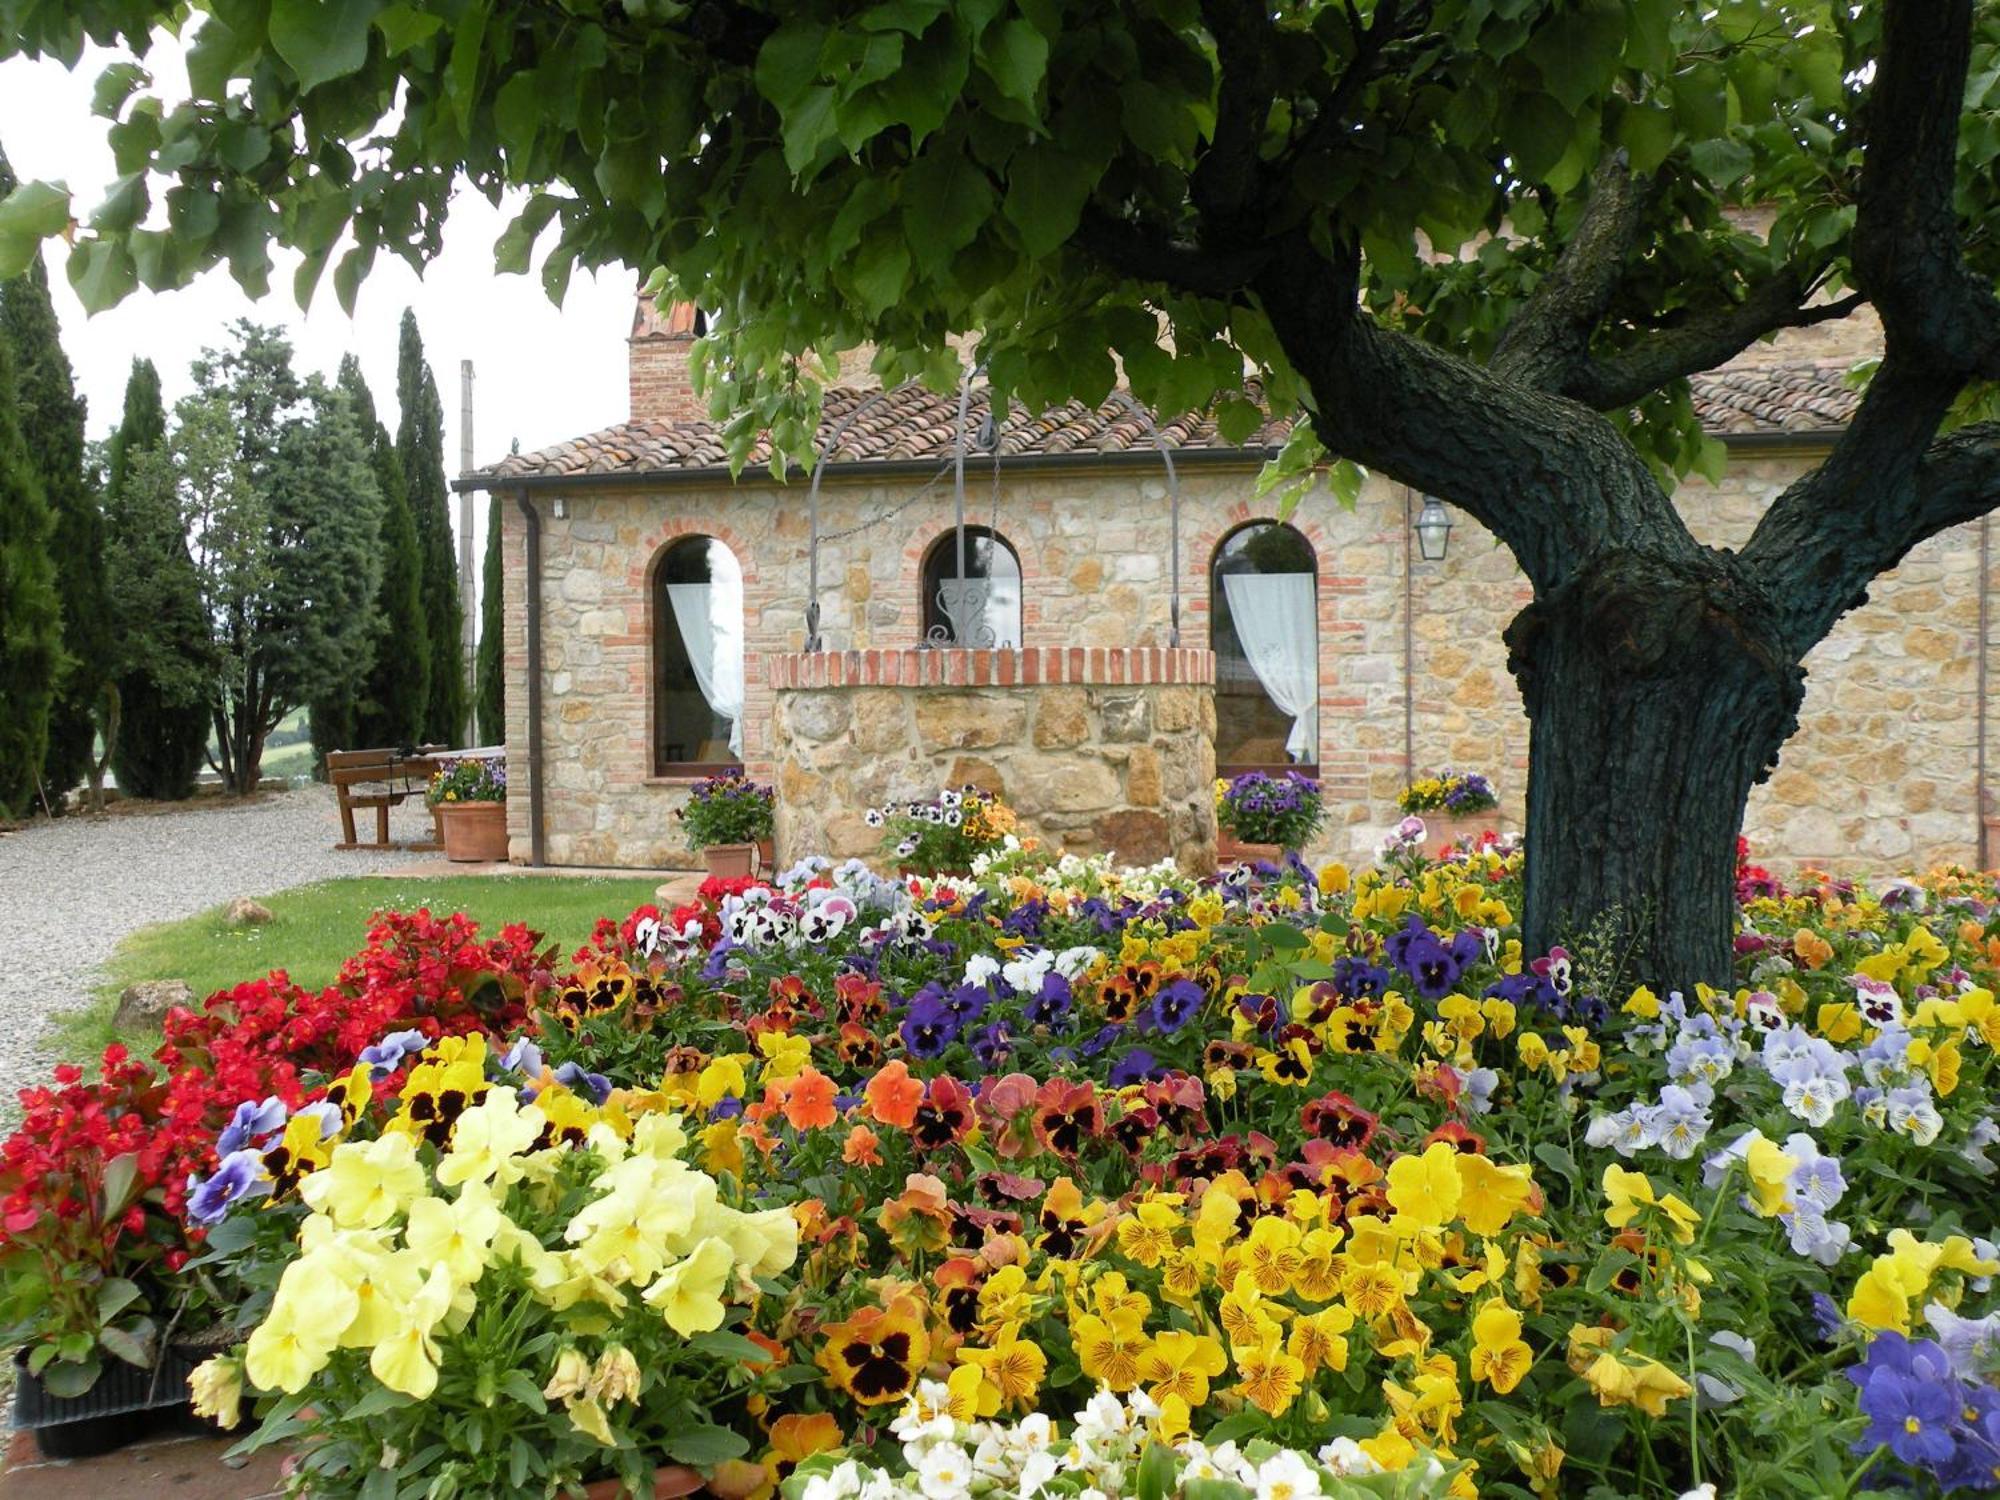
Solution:
<svg viewBox="0 0 2000 1500"><path fill-rule="evenodd" d="M104 572L120 720L112 776L126 796L172 802L194 792L206 756L214 650L152 360L132 360L108 470Z"/></svg>

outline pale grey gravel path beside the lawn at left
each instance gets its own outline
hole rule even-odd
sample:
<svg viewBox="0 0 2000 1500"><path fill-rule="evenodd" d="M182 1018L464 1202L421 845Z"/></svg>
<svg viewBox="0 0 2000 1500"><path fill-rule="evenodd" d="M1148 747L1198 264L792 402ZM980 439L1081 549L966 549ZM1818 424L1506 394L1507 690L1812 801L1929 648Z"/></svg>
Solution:
<svg viewBox="0 0 2000 1500"><path fill-rule="evenodd" d="M374 814L358 814L362 836ZM390 810L390 836L422 838L422 802ZM48 1018L90 1004L132 930L332 876L436 854L336 850L334 792L308 786L242 806L62 818L0 836L0 1112L58 1060Z"/></svg>

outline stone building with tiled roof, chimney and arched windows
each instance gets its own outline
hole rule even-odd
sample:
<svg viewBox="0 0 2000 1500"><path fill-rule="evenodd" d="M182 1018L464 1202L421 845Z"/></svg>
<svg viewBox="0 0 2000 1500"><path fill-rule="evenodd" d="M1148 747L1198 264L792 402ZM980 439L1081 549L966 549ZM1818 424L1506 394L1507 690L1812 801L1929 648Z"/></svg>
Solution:
<svg viewBox="0 0 2000 1500"><path fill-rule="evenodd" d="M1282 428L1154 430L1122 394L992 422L974 388L960 486L956 396L840 388L818 486L732 480L688 388L696 332L642 302L630 420L466 480L506 500L518 862L692 866L674 814L736 764L778 788L780 858L872 854L866 808L970 780L1070 848L1200 862L1212 776L1286 764L1326 786L1322 852L1370 850L1446 764L1488 772L1520 826L1500 632L1526 584L1468 516L1428 562L1422 496L1376 476L1276 526L1254 490ZM1818 462L1876 340L1856 316L1696 380L1730 456L1676 496L1696 536L1742 542ZM1984 856L1984 522L1926 542L1812 654L1752 798L1760 858Z"/></svg>

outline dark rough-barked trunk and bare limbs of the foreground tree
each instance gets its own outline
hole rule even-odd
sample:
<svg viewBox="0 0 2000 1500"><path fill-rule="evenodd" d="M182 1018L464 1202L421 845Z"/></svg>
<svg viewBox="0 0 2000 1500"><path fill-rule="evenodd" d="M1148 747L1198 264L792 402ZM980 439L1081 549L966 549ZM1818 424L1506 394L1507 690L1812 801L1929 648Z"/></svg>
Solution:
<svg viewBox="0 0 2000 1500"><path fill-rule="evenodd" d="M2000 378L2000 298L1968 264L1954 212L1972 0L1874 4L1882 36L1856 118L1854 292L1842 298L1818 296L1828 268L1808 258L1674 326L1626 326L1614 302L1644 258L1662 180L1634 176L1616 150L1484 364L1360 306L1364 226L1338 202L1312 230L1246 240L1238 206L1284 198L1284 182L1196 192L1192 236L1102 208L1078 236L1126 276L1260 308L1330 452L1466 510L1520 562L1534 602L1506 640L1530 722L1530 954L1622 926L1632 978L1726 982L1734 840L1796 728L1806 652L1912 546L2000 502L2000 424L1938 436L1968 380ZM1222 0L1208 12L1228 34L1218 162L1282 174L1290 158L1222 150L1260 118L1262 12ZM1402 20L1376 8L1354 78L1388 66ZM1410 20L1420 28L1422 10ZM1314 148L1360 138L1344 118L1352 98L1342 88L1326 102ZM1220 166L1206 182L1196 170L1196 186L1212 188ZM1834 452L1746 546L1702 546L1604 414L1860 298L1882 316L1886 352Z"/></svg>

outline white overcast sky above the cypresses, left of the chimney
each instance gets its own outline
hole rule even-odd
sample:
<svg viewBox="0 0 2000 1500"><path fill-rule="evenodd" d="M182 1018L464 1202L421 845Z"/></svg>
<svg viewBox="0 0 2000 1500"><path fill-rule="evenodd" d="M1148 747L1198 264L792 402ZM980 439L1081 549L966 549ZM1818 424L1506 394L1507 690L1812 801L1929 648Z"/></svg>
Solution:
<svg viewBox="0 0 2000 1500"><path fill-rule="evenodd" d="M90 86L110 58L90 50L66 72L58 62L0 62L0 146L18 178L60 180L76 194L76 216L90 208L112 180L106 122L90 114ZM180 52L172 42L146 60L160 88L178 96L186 88ZM226 268L178 292L138 290L110 312L86 318L70 292L62 244L44 248L62 346L90 400L90 436L102 438L124 408L126 376L134 356L160 368L168 404L190 390L188 362L218 344L236 318L282 324L292 334L294 364L332 378L340 356L360 356L376 410L396 430L396 328L402 310L416 308L424 354L444 398L446 468L458 472L458 362L472 360L474 450L480 464L506 454L520 438L524 452L574 438L626 418L624 336L632 324L636 276L606 270L578 272L558 310L538 276L500 276L492 244L508 216L484 198L462 192L444 232L444 254L422 280L402 260L376 258L362 284L354 318L332 292L332 274L310 312L292 300L296 256L280 256L272 290L250 300Z"/></svg>

